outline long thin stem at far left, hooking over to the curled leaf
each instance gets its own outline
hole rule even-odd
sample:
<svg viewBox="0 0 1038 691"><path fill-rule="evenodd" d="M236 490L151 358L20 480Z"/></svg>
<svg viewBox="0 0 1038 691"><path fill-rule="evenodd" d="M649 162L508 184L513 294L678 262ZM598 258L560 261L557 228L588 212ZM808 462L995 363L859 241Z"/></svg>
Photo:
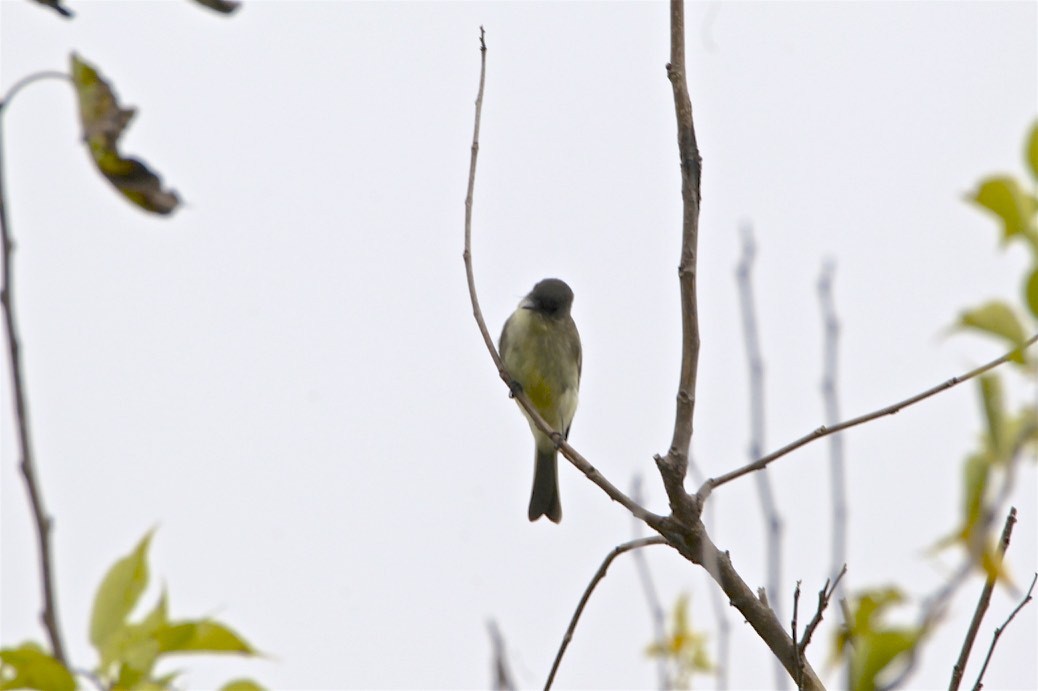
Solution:
<svg viewBox="0 0 1038 691"><path fill-rule="evenodd" d="M43 72L30 75L17 82L6 93L4 100L0 102L0 119L6 112L6 106L19 90L28 86L32 82L43 79L51 79L60 76L67 80L67 75L59 73ZM3 132L0 127L0 253L3 254L3 281L0 285L0 303L3 305L4 331L7 336L7 361L10 366L11 394L15 400L15 420L18 427L18 446L22 476L25 478L25 489L29 495L29 504L32 507L32 518L36 528L36 544L39 552L39 580L43 586L44 609L40 612L40 619L47 630L47 636L51 642L51 652L54 659L65 667L69 667L65 657L64 643L61 640L61 628L58 624L58 603L57 590L54 585L54 557L51 553L51 529L53 522L44 508L44 497L39 489L39 480L36 474L35 457L32 450L32 437L29 427L29 402L25 388L25 374L22 369L22 354L20 338L18 335L18 320L15 315L15 295L13 295L13 262L11 255L15 252L15 242L11 239L10 228L7 224L7 195L4 190L3 178Z"/></svg>

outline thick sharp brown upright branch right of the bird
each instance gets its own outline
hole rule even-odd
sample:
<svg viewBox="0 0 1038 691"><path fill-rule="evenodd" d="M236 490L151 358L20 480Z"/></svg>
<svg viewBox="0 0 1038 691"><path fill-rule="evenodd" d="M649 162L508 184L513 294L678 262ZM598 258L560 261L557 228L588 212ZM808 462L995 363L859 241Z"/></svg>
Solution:
<svg viewBox="0 0 1038 691"><path fill-rule="evenodd" d="M678 156L681 164L681 259L678 282L681 291L681 376L678 381L674 437L671 448L657 466L663 476L671 509L679 519L691 510L683 483L688 468L688 449L692 441L692 414L695 410L695 378L700 360L699 307L695 301L695 261L700 227L700 178L703 160L692 127L692 104L685 77L685 7L682 0L671 0L671 61L666 75L674 91L674 110L678 123ZM685 520L682 520L684 523Z"/></svg>

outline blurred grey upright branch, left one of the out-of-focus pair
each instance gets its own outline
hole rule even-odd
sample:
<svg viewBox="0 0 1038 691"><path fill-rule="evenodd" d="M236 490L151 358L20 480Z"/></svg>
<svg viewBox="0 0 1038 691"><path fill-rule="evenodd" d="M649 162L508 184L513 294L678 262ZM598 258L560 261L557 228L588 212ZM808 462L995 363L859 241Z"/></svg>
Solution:
<svg viewBox="0 0 1038 691"><path fill-rule="evenodd" d="M764 359L761 357L760 334L757 328L757 308L754 304L754 286L752 272L754 258L757 256L757 245L754 242L754 230L749 225L742 227L742 257L736 267L736 278L739 286L739 306L742 313L742 334L746 343L746 360L749 366L749 459L764 455ZM782 591L782 518L775 504L774 493L771 490L771 477L767 469L756 473L757 494L761 501L761 512L764 516L764 528L767 531L767 591L771 595L772 608L775 616L782 618L782 608L778 597ZM795 636L794 636L795 638ZM786 687L786 672L777 660L774 661L774 688Z"/></svg>

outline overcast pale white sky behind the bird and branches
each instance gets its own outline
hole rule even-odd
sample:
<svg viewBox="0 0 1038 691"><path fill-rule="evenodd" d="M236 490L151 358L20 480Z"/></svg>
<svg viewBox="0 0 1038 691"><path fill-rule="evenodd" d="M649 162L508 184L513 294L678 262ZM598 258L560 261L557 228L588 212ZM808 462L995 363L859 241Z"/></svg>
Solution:
<svg viewBox="0 0 1038 691"><path fill-rule="evenodd" d="M105 570L159 526L147 603L165 583L174 616L214 614L270 653L186 661L191 687L243 674L275 688L486 687L489 618L519 683L543 684L631 522L568 465L562 525L526 521L532 442L461 261L479 26L484 312L496 335L538 279L573 286L584 364L571 441L621 487L646 474L662 513L651 459L670 442L680 352L665 4L253 1L233 19L173 0L71 4L64 22L0 2L0 87L66 70L78 51L140 109L125 150L187 202L163 219L114 194L61 83L22 92L4 117L32 425L76 664L94 662L86 628ZM746 460L741 223L759 244L766 447L823 421L826 258L848 416L998 355L944 334L966 306L1018 300L1026 257L1000 253L995 224L962 195L985 174L1023 174L1036 4L710 2L691 4L687 25L704 158L693 451L706 472ZM43 631L3 377L0 640L13 644ZM847 434L850 587L922 596L957 563L926 551L957 520L980 429L975 390L960 387ZM1021 584L1038 561L1034 468L1013 499ZM771 475L788 613L794 582L814 592L828 569L825 444ZM711 501L715 542L762 585L754 481ZM665 548L648 557L665 602L690 592L694 626L714 631L704 574ZM913 687L947 687L980 585L955 601ZM996 593L983 646L1014 603ZM767 649L730 615L733 686L769 686ZM987 688L1038 686L1036 617L1031 606L1008 631ZM830 633L813 645L820 670ZM651 636L622 557L558 685L654 686Z"/></svg>

